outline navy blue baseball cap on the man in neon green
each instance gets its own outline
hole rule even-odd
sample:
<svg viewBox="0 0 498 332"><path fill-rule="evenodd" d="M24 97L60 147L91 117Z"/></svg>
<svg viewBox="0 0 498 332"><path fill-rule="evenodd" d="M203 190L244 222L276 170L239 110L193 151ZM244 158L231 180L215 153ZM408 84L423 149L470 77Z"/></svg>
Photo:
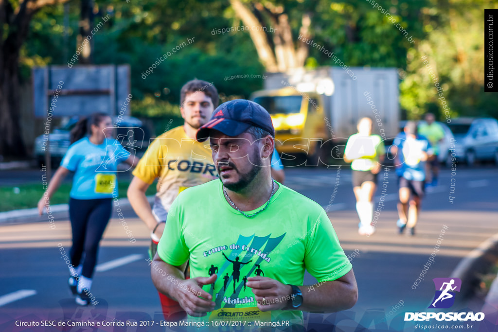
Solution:
<svg viewBox="0 0 498 332"><path fill-rule="evenodd" d="M210 136L211 129L221 131L227 136L238 136L250 126L264 129L275 137L275 129L268 111L249 100L236 99L218 106L209 122L197 130L196 138L199 142L204 142Z"/></svg>

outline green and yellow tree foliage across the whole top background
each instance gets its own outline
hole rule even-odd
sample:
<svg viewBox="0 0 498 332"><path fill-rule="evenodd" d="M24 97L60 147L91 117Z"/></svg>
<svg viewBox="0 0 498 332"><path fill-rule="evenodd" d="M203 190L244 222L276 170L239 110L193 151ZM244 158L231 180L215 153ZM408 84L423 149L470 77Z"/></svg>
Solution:
<svg viewBox="0 0 498 332"><path fill-rule="evenodd" d="M395 67L400 73L400 105L409 118L434 111L444 118L443 105L426 56L452 117L498 116L496 94L484 93L484 8L491 0L327 0L243 1L253 12L258 5L281 7L288 15L295 45L303 14L311 18L314 42L334 52L351 67ZM374 3L377 3L375 6ZM382 6L384 12L378 10ZM22 68L64 64L76 48L78 3L69 5L69 27L64 37L63 5L40 10L31 22L29 42L22 50ZM384 13L388 12L392 15ZM236 75L262 75L264 67L247 31L216 34L214 29L242 23L229 1L106 1L95 8L95 22L110 14L93 38L96 64L131 65L132 109L140 116L178 116L179 92L194 77L214 82L222 101L248 98L262 87L258 78L228 80ZM264 13L262 15L265 15ZM272 16L263 17L267 26ZM403 34L396 24L406 31ZM411 37L413 42L407 38ZM143 73L157 59L187 38L195 41ZM268 36L270 44L271 35ZM187 42L188 44L188 42ZM306 67L334 66L324 51L309 48ZM22 72L28 75L28 71Z"/></svg>

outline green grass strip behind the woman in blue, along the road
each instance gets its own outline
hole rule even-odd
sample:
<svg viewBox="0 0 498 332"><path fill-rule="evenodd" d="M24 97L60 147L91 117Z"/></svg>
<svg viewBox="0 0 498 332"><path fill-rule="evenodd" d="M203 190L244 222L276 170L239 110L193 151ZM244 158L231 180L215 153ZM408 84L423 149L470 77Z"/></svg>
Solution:
<svg viewBox="0 0 498 332"><path fill-rule="evenodd" d="M126 190L130 181L118 181L118 197L125 198ZM71 191L71 183L63 183L55 192L50 200L50 205L67 204L69 203L69 192ZM18 188L18 189L16 189ZM146 195L155 194L155 184L152 184L147 189ZM0 212L36 208L38 201L43 195L43 186L39 183L24 184L16 187L0 186Z"/></svg>

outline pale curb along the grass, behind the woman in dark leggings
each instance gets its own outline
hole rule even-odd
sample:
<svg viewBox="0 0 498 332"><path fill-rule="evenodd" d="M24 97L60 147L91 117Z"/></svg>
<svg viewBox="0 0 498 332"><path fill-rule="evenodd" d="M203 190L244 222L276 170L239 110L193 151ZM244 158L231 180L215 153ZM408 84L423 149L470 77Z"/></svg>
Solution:
<svg viewBox="0 0 498 332"><path fill-rule="evenodd" d="M155 196L147 196L147 201L149 204L154 203ZM121 207L129 207L130 203L127 198L120 198L118 200L119 205ZM57 204L50 206L50 210L52 214L62 214L69 212L69 204ZM9 223L27 223L27 222L38 222L38 221L47 221L46 214L41 216L38 215L37 208L31 209L20 209L20 210L12 210L6 212L0 212L0 225L9 224Z"/></svg>

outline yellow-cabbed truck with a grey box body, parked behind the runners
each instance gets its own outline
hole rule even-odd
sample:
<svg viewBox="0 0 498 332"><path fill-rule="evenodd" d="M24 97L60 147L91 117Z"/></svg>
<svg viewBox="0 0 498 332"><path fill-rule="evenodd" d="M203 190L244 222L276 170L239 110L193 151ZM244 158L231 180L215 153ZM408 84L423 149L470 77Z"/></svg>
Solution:
<svg viewBox="0 0 498 332"><path fill-rule="evenodd" d="M283 160L306 157L307 166L331 166L341 159L358 119L369 116L373 132L388 140L398 133L398 75L394 68L341 67L267 73L264 90L251 100L264 107L275 127Z"/></svg>

